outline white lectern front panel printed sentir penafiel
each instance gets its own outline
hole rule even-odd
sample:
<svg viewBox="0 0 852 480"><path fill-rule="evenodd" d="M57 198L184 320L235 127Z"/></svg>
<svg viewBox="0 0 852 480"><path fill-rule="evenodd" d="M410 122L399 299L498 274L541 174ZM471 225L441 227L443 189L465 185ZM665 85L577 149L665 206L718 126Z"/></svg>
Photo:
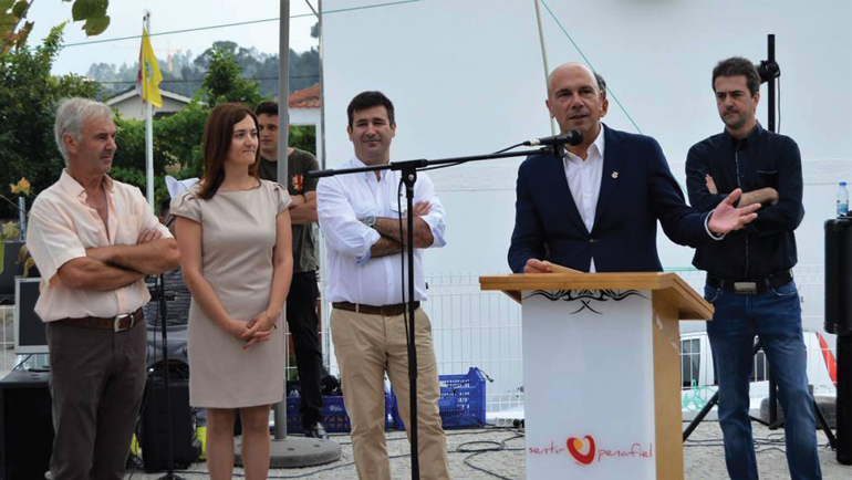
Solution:
<svg viewBox="0 0 852 480"><path fill-rule="evenodd" d="M524 291L528 479L654 479L650 291Z"/></svg>

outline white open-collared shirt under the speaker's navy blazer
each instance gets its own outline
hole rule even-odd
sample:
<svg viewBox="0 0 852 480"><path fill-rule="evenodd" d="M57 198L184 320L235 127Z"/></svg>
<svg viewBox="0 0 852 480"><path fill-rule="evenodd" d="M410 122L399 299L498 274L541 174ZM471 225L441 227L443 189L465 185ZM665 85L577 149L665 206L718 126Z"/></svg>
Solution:
<svg viewBox="0 0 852 480"><path fill-rule="evenodd" d="M594 227L594 212L598 209L598 198L601 195L601 176L603 175L603 129L598 133L598 138L589 146L586 159L565 150L562 163L565 167L568 188L574 198L576 211L585 223L585 229L591 233ZM589 271L594 272L594 257L589 265Z"/></svg>

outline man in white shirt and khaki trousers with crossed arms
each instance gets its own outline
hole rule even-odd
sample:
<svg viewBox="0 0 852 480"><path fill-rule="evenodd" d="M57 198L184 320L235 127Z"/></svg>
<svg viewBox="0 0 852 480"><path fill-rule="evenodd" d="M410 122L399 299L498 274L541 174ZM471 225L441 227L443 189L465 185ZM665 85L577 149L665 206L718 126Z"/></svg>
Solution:
<svg viewBox="0 0 852 480"><path fill-rule="evenodd" d="M355 158L341 166L386 165L396 133L394 106L381 92L363 92L349 105L350 140ZM391 170L323 178L316 187L320 228L329 259L331 333L352 422L352 449L359 478L389 480L385 445L384 376L396 393L399 415L409 424L409 382L403 293L407 293L399 252L407 225L399 205L399 173ZM415 345L417 348L417 426L420 478L449 479L446 437L438 411L440 387L426 300L423 249L444 247L444 207L432 180L418 174L414 186ZM402 278L405 276L406 283Z"/></svg>

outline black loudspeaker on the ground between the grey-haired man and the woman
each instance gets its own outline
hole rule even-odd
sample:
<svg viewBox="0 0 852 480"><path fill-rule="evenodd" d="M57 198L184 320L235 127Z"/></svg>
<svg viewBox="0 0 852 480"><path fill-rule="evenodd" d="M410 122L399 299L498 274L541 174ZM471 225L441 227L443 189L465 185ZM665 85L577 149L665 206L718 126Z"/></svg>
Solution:
<svg viewBox="0 0 852 480"><path fill-rule="evenodd" d="M172 397L172 455L174 466L186 468L198 459L193 445L193 417L189 409L189 382L174 373L168 379ZM142 410L139 446L145 471L166 470L168 455L168 422L166 387L162 369L148 375Z"/></svg>

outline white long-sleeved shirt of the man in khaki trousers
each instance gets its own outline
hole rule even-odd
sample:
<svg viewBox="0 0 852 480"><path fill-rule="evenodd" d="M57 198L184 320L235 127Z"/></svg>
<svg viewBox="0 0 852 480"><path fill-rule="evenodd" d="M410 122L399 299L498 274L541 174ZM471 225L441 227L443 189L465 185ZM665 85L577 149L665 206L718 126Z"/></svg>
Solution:
<svg viewBox="0 0 852 480"><path fill-rule="evenodd" d="M364 166L355 158L341 168ZM370 248L378 241L381 234L361 221L370 216L399 218L398 205L405 215L405 187L399 188L399 171L384 170L380 180L376 180L374 171L320 179L316 186L316 215L329 253L325 272L330 301L392 305L403 301L403 289L408 293L407 258L405 269L401 265L401 254L371 258ZM444 247L444 206L435 196L435 187L429 177L418 173L414 185L414 202L424 200L432 206L429 213L420 217L435 238L432 247ZM423 249L417 248L414 249L414 298L417 301L426 300Z"/></svg>

